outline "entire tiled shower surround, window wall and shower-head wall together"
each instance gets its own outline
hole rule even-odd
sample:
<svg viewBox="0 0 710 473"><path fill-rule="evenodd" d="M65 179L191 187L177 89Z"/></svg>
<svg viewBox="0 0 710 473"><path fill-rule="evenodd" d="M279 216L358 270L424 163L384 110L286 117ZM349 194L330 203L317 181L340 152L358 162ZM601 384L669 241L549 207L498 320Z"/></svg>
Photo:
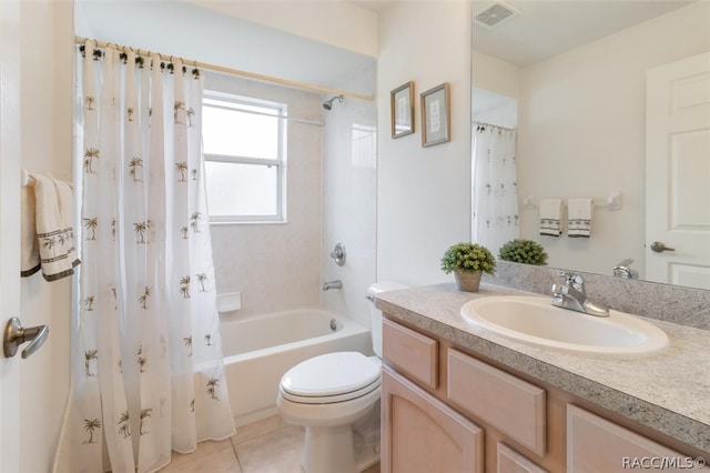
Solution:
<svg viewBox="0 0 710 473"><path fill-rule="evenodd" d="M375 92L375 62L339 88ZM324 306L369 326L367 288L375 280L376 108L345 98L326 112L331 95L213 76L207 89L288 104L287 222L212 225L217 292L240 291L242 309L223 316ZM227 89L224 89L227 88ZM345 245L346 264L329 258ZM329 280L343 289L323 291Z"/></svg>

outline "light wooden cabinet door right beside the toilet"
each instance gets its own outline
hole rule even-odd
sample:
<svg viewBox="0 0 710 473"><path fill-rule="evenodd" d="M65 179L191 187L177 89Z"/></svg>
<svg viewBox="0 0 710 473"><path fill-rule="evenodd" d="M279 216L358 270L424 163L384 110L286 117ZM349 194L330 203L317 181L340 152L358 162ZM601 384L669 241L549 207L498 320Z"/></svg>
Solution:
<svg viewBox="0 0 710 473"><path fill-rule="evenodd" d="M382 423L383 473L483 472L483 431L386 366Z"/></svg>

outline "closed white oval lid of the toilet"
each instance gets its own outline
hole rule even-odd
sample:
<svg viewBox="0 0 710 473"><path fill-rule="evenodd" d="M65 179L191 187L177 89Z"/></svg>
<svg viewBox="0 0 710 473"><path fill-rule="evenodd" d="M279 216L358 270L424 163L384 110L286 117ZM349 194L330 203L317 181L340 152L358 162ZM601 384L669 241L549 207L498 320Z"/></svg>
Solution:
<svg viewBox="0 0 710 473"><path fill-rule="evenodd" d="M357 391L379 379L381 366L359 352L336 352L296 364L281 389L298 396L332 396Z"/></svg>

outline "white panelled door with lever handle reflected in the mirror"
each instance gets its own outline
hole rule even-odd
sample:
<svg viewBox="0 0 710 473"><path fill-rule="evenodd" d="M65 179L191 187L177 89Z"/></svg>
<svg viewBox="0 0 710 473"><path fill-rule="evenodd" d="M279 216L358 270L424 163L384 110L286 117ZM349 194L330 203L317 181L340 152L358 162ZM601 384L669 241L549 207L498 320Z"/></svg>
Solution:
<svg viewBox="0 0 710 473"><path fill-rule="evenodd" d="M710 289L710 52L647 73L646 269Z"/></svg>

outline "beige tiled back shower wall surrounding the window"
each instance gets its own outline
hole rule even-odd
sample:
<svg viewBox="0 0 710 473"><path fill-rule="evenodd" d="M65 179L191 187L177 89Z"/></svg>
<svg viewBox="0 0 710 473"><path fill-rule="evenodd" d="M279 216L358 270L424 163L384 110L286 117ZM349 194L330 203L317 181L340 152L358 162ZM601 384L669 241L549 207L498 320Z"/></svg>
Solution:
<svg viewBox="0 0 710 473"><path fill-rule="evenodd" d="M211 227L217 293L242 293L242 309L223 316L317 306L322 284L321 94L222 74L207 77L205 88L286 103L288 117L303 120L287 124L287 222Z"/></svg>

